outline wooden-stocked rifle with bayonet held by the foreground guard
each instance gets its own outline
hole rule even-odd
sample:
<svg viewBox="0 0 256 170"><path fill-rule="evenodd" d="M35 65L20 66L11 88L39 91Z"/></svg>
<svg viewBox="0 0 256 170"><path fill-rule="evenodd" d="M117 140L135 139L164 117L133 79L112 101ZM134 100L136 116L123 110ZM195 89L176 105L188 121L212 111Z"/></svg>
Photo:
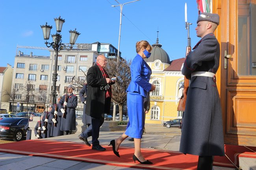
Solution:
<svg viewBox="0 0 256 170"><path fill-rule="evenodd" d="M191 38L189 37L189 25L192 25L192 23L187 22L187 3L185 3L185 27L187 29L186 57L187 57L188 53L191 51ZM187 79L187 77L184 76L183 97L180 98L178 108L177 108L178 111L182 111L182 112L185 111L188 86L189 86L189 79Z"/></svg>

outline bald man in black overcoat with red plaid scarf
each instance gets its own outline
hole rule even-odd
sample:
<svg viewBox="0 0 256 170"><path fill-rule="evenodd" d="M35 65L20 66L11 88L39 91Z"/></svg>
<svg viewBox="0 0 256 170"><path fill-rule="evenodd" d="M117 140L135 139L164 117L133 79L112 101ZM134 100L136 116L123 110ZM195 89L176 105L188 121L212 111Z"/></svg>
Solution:
<svg viewBox="0 0 256 170"><path fill-rule="evenodd" d="M100 126L104 122L104 113L109 114L111 102L111 80L104 69L107 59L99 55L96 64L88 69L86 81L88 84L85 113L92 117L92 144L93 150L104 151L106 148L100 146L98 141Z"/></svg>

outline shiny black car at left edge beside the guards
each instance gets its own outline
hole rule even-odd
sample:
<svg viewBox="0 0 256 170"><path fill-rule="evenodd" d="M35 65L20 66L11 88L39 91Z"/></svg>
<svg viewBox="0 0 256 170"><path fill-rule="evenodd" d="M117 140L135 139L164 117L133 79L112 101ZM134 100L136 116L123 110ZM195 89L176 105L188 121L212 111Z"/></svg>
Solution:
<svg viewBox="0 0 256 170"><path fill-rule="evenodd" d="M21 141L26 136L24 127L27 123L28 118L24 117L9 117L0 120L0 138Z"/></svg>

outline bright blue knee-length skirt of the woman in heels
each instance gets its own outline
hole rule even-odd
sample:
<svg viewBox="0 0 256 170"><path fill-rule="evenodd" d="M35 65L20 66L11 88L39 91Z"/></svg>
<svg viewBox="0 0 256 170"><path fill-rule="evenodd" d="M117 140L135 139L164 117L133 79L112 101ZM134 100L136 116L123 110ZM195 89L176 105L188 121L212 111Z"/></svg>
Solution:
<svg viewBox="0 0 256 170"><path fill-rule="evenodd" d="M127 112L129 122L124 133L133 138L142 137L142 130L145 124L143 102L144 97L139 95L139 93L127 93Z"/></svg>

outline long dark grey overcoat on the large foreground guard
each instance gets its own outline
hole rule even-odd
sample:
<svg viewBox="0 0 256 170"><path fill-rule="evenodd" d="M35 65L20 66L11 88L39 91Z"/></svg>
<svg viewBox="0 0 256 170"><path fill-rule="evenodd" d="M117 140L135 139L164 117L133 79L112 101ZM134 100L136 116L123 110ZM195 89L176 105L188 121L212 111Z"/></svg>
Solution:
<svg viewBox="0 0 256 170"><path fill-rule="evenodd" d="M219 68L219 42L210 33L193 48L184 62L182 74L194 71L216 73ZM180 152L201 156L224 155L223 122L219 92L212 77L191 78L184 118Z"/></svg>

